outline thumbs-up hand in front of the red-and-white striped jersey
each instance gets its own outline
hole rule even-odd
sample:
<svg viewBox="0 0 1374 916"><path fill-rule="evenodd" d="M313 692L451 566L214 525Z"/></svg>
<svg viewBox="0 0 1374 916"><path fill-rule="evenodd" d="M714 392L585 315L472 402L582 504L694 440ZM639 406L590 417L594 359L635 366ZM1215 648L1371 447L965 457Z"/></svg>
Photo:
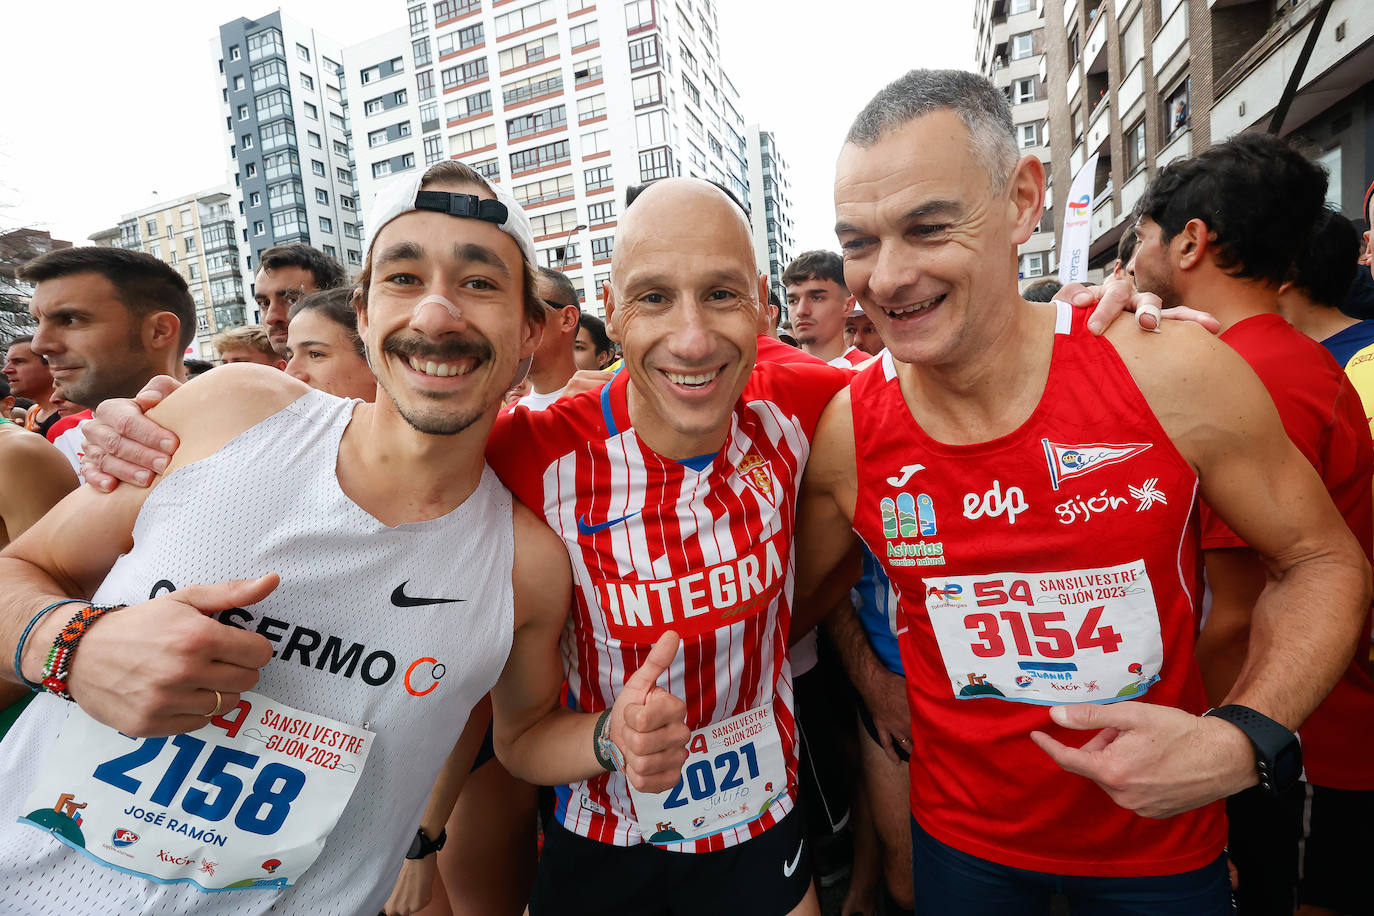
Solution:
<svg viewBox="0 0 1374 916"><path fill-rule="evenodd" d="M629 784L642 792L666 792L677 784L687 762L687 703L657 684L680 641L673 630L660 636L611 706L610 740L625 755Z"/></svg>

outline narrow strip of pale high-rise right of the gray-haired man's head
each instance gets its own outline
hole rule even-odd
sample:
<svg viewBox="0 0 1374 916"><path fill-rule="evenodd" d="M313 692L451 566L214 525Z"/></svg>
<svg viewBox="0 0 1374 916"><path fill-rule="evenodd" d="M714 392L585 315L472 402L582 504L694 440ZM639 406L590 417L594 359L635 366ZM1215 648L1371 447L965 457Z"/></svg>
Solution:
<svg viewBox="0 0 1374 916"><path fill-rule="evenodd" d="M978 71L1006 93L1017 146L1050 172L1050 92L1046 81L1046 27L1041 0L976 0L973 27ZM1062 147L1061 147L1062 148ZM1022 286L1052 275L1057 266L1052 196L1035 233L1021 246Z"/></svg>

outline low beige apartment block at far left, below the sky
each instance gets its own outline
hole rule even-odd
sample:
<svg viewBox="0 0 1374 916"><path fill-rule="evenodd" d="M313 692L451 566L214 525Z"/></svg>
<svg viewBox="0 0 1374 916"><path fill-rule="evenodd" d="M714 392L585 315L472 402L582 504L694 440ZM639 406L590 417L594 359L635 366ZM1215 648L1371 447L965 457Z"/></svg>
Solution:
<svg viewBox="0 0 1374 916"><path fill-rule="evenodd" d="M120 224L88 236L93 244L128 249L166 261L195 299L195 339L185 356L214 360L210 338L245 324L249 299L242 276L243 220L232 185L157 201L125 213Z"/></svg>

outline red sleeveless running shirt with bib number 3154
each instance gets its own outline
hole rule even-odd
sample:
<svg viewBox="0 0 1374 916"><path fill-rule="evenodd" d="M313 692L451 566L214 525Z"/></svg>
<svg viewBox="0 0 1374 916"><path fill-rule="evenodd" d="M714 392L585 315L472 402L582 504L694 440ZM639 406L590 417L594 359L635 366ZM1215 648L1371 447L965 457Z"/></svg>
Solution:
<svg viewBox="0 0 1374 916"><path fill-rule="evenodd" d="M1054 725L1051 705L1206 709L1197 475L1085 320L1059 306L1039 405L989 442L926 435L890 356L860 372L855 530L905 615L921 827L1015 868L1176 873L1221 853L1220 802L1139 817L1030 740L1091 737Z"/></svg>

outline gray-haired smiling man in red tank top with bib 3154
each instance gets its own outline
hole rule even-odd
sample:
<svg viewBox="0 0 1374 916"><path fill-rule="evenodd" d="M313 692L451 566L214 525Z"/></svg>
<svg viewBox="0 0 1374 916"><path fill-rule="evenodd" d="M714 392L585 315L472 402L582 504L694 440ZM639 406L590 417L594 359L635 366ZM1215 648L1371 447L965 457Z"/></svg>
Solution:
<svg viewBox="0 0 1374 916"><path fill-rule="evenodd" d="M855 121L837 233L889 356L822 416L798 595L851 523L897 591L918 913L1228 913L1217 799L1297 779L1369 567L1228 347L1020 298L1043 188L981 77L912 71ZM1200 494L1275 571L1205 717Z"/></svg>

